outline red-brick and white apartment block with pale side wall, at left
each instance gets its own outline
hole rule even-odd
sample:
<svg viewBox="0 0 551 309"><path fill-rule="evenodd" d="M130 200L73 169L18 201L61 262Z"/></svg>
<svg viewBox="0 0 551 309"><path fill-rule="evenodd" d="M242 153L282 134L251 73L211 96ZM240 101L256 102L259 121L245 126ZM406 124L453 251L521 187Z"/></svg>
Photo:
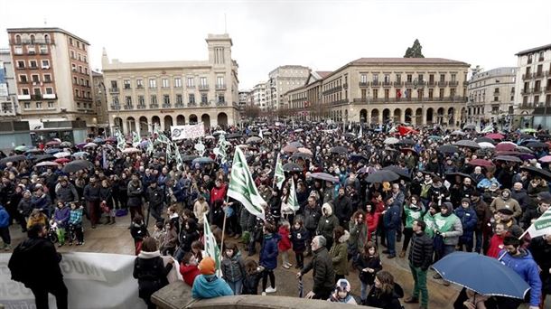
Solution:
<svg viewBox="0 0 551 309"><path fill-rule="evenodd" d="M32 128L49 121L85 121L95 128L89 42L60 28L7 33L22 119Z"/></svg>

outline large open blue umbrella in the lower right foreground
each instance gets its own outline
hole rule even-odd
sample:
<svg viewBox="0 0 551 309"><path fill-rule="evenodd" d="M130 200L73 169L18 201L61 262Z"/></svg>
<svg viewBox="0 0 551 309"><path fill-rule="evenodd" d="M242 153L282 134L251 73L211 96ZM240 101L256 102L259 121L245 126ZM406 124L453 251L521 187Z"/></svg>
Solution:
<svg viewBox="0 0 551 309"><path fill-rule="evenodd" d="M445 280L472 289L480 295L524 299L530 286L497 258L472 252L453 252L433 265Z"/></svg>

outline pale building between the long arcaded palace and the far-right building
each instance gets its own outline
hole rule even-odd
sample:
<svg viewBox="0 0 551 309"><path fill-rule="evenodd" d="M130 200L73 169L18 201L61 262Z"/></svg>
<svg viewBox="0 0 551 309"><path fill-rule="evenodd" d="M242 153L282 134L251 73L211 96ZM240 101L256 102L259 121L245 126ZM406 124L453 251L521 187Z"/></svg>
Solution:
<svg viewBox="0 0 551 309"><path fill-rule="evenodd" d="M472 75L467 94L467 122L509 125L514 114L517 68L504 67Z"/></svg>

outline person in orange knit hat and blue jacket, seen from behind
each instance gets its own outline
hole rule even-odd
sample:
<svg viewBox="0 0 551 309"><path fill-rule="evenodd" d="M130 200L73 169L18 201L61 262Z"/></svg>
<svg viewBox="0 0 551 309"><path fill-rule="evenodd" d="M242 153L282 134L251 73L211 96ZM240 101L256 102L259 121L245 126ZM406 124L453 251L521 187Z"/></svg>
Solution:
<svg viewBox="0 0 551 309"><path fill-rule="evenodd" d="M232 296L233 291L224 279L214 275L216 263L212 257L203 257L199 263L201 275L196 276L191 287L193 298L214 298L219 296Z"/></svg>

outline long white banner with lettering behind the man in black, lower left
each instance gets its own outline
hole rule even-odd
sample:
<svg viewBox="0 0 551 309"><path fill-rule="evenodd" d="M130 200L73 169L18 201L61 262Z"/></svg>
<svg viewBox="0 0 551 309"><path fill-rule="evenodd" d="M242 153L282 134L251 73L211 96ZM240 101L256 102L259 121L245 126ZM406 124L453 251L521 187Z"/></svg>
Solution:
<svg viewBox="0 0 551 309"><path fill-rule="evenodd" d="M137 280L132 276L135 256L85 252L62 255L60 267L69 290L70 308L146 308L138 297ZM12 281L7 267L11 256L0 254L0 304L5 309L34 308L33 292ZM175 263L168 276L171 282L175 278L182 280L177 266ZM55 307L55 298L50 295L50 308Z"/></svg>

